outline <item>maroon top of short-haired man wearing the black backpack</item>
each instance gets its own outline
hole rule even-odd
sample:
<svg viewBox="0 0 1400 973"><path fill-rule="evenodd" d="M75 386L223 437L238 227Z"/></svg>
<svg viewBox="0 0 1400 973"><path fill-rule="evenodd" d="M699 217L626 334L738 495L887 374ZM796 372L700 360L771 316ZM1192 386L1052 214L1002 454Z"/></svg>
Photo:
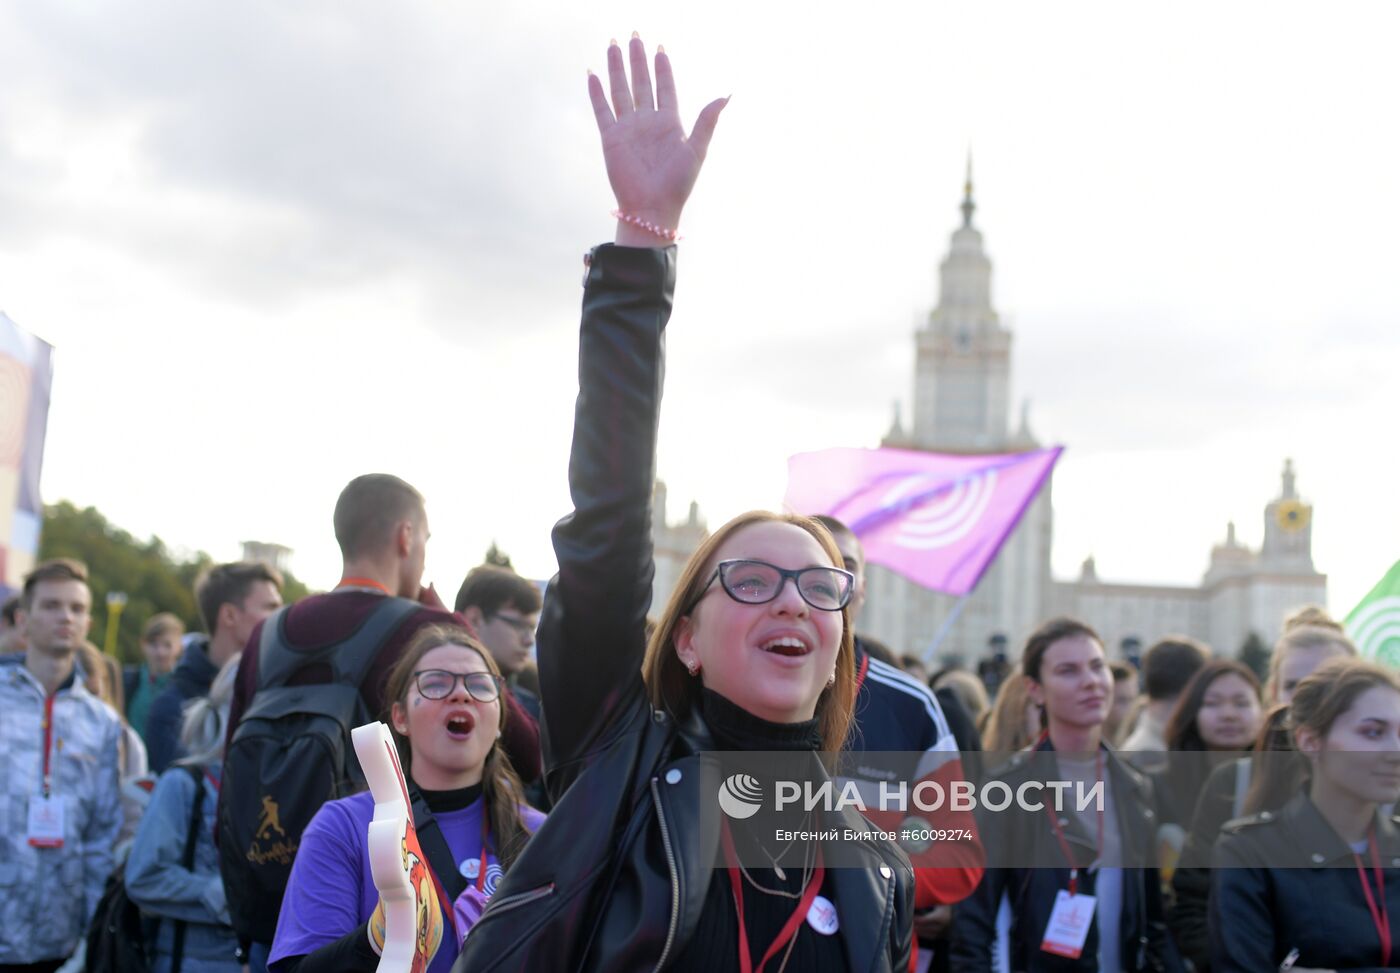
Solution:
<svg viewBox="0 0 1400 973"><path fill-rule="evenodd" d="M344 638L364 622L364 617L379 603L384 595L363 588L343 588L323 595L302 598L287 612L287 641L293 648L307 645L325 645ZM384 686L388 682L389 671L403 655L403 650L417 634L419 629L427 624L466 624L461 616L444 609L424 605L417 612L405 619L399 629L389 636L379 657L370 665L364 682L360 683L360 696L364 697L370 713L381 720L388 720L391 700L384 699ZM248 648L238 664L238 679L234 683L234 699L228 710L228 736L225 742L232 742L234 731L244 718L244 713L252 703L258 689L258 641L262 638L262 623L253 629L248 637ZM318 664L298 669L288 680L290 686L308 686L328 682L330 668ZM501 735L501 745L511 759L511 766L526 784L540 774L539 755L539 725L511 693L510 687L503 687L501 699L505 703L505 732Z"/></svg>

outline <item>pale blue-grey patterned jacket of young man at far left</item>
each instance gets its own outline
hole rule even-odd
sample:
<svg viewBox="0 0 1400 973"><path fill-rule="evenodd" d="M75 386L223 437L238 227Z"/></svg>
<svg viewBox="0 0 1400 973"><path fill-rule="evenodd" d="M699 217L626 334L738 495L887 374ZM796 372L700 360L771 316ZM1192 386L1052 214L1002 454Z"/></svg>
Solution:
<svg viewBox="0 0 1400 973"><path fill-rule="evenodd" d="M49 734L63 847L29 844L29 805L43 788L46 699L21 658L0 665L0 965L62 959L77 948L122 827L122 721L74 673L53 694Z"/></svg>

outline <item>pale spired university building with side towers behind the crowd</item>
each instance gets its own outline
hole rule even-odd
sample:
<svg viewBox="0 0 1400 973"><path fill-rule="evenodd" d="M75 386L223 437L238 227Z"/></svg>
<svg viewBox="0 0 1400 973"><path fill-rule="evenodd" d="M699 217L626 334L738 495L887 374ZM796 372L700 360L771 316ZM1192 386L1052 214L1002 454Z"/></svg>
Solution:
<svg viewBox="0 0 1400 973"><path fill-rule="evenodd" d="M1030 433L1025 405L1015 428L1011 424L1012 333L991 301L991 260L981 231L973 225L970 171L960 210L962 225L939 266L938 304L914 335L913 423L904 427L896 405L881 445L962 455L1035 449L1040 444ZM1072 615L1099 630L1110 655L1117 655L1124 641L1147 647L1166 634L1187 634L1219 655L1238 655L1252 633L1273 644L1288 612L1326 603L1327 578L1312 561L1312 507L1298 494L1291 461L1285 462L1278 497L1264 508L1261 547L1256 552L1242 545L1231 524L1196 587L1107 582L1098 577L1092 557L1074 581L1056 581L1050 570L1051 480L1046 479L951 624L956 598L872 564L861 630L899 654L914 655L924 655L941 636L939 658L972 664L1002 647L1015 658L1040 622ZM704 524L694 504L687 519L669 524L659 482L654 518L657 610L704 538Z"/></svg>

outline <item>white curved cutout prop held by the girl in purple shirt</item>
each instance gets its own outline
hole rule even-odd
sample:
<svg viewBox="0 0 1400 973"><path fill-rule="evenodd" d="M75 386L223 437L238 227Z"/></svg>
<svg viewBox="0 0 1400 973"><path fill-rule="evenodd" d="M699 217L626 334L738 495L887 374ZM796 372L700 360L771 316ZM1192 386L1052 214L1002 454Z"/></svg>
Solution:
<svg viewBox="0 0 1400 973"><path fill-rule="evenodd" d="M433 875L413 827L409 783L389 728L370 722L350 731L370 794L370 874L384 913L382 944L371 921L371 942L379 948L377 973L423 973L442 941L442 914Z"/></svg>

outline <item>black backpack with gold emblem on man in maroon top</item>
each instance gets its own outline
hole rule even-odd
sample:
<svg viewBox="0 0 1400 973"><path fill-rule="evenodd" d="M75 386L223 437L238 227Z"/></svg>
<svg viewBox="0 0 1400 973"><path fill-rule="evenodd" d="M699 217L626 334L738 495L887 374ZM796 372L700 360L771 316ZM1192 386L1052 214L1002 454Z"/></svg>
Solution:
<svg viewBox="0 0 1400 973"><path fill-rule="evenodd" d="M364 790L350 731L378 718L360 685L379 650L421 605L385 598L357 630L308 650L287 641L287 608L263 622L258 689L224 755L218 864L234 930L272 942L301 833L326 801ZM308 665L330 682L288 686Z"/></svg>

